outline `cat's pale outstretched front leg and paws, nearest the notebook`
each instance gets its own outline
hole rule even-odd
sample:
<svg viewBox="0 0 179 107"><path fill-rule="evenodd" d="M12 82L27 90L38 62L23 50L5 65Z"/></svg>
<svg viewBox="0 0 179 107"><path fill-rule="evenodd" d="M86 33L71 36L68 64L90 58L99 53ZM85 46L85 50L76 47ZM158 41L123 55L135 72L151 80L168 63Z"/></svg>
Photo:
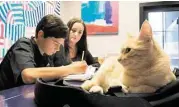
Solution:
<svg viewBox="0 0 179 107"><path fill-rule="evenodd" d="M115 61L117 61L117 58L115 58ZM107 92L110 87L110 81L108 80L115 68L115 61L114 58L106 59L95 73L94 77L91 80L85 81L81 87L91 92Z"/></svg>

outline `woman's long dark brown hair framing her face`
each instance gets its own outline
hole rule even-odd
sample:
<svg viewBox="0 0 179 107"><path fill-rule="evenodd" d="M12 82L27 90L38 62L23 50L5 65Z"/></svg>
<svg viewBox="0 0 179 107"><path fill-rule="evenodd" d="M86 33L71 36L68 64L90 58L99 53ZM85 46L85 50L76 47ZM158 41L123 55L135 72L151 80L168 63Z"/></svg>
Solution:
<svg viewBox="0 0 179 107"><path fill-rule="evenodd" d="M67 26L69 29L69 35L70 35L70 31L73 27L73 25L75 23L81 23L84 27L84 31L83 34L81 36L81 39L77 42L76 46L77 46L77 55L81 55L83 51L87 51L88 47L87 47L87 31L86 31L86 25L83 22L83 20L79 19L79 18L72 18L71 20L68 21ZM65 52L68 54L69 53L69 35L67 36L66 40L65 40Z"/></svg>

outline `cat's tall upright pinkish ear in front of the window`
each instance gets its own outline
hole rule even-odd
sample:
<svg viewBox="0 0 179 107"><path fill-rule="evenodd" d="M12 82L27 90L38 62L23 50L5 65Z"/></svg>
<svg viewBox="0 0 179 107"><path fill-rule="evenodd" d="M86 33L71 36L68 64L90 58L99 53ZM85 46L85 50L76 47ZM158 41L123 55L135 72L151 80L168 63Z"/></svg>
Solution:
<svg viewBox="0 0 179 107"><path fill-rule="evenodd" d="M152 39L152 28L147 20L142 24L139 39L145 41L150 41Z"/></svg>

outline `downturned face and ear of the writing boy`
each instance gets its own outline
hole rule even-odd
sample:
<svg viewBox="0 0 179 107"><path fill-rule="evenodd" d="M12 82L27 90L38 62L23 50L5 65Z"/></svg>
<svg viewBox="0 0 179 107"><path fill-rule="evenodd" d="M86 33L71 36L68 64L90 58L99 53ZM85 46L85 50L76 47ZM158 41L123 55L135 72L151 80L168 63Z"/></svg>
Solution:
<svg viewBox="0 0 179 107"><path fill-rule="evenodd" d="M40 33L42 32L42 33ZM57 51L60 51L60 46L64 45L64 38L54 38L54 37L43 37L43 31L39 31L38 33L38 41L40 42L40 48L46 53L47 55L55 54Z"/></svg>

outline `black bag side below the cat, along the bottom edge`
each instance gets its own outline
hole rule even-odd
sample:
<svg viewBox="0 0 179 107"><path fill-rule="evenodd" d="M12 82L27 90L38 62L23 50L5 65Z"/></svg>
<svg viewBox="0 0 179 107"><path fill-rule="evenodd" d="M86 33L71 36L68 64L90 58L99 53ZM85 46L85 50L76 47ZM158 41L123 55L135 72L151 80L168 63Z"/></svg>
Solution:
<svg viewBox="0 0 179 107"><path fill-rule="evenodd" d="M34 100L38 107L63 107L66 104L70 107L151 107L142 98L88 93L80 87L64 85L63 80L45 82L37 79Z"/></svg>

